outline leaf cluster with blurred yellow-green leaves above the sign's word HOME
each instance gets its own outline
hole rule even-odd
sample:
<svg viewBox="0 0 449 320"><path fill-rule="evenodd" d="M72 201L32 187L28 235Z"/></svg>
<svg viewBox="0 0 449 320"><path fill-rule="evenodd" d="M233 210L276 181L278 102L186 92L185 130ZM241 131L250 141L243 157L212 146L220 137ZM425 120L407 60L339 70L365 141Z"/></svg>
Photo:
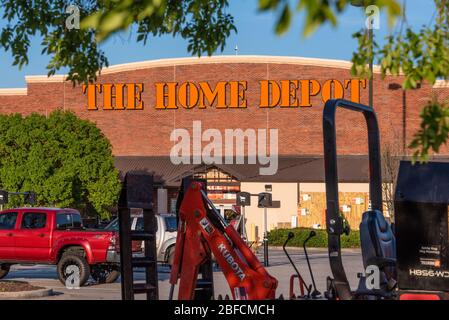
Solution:
<svg viewBox="0 0 449 320"><path fill-rule="evenodd" d="M227 7L227 0L105 0L83 20L82 27L96 30L97 39L103 41L135 23L137 41L146 43L149 35L179 35L188 40L192 54L212 55L217 49L222 51L236 31Z"/></svg>

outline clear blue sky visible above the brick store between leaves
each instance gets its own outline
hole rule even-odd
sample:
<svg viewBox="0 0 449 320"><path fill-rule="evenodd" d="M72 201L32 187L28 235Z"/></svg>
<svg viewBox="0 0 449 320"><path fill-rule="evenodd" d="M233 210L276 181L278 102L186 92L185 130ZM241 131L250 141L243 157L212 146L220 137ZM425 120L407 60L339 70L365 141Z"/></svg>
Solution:
<svg viewBox="0 0 449 320"><path fill-rule="evenodd" d="M227 41L223 52L216 55L233 55L237 45L240 55L282 55L327 59L349 60L355 49L351 35L364 25L364 13L360 8L350 8L339 18L339 25L321 27L308 38L301 36L302 16L296 15L290 31L283 36L274 33L276 15L257 11L257 0L230 0L229 12L235 18L238 29ZM402 1L401 1L402 2ZM428 24L434 12L433 0L406 0L409 25L419 27ZM0 21L0 27L4 22ZM377 37L383 38L390 32L385 15L381 14ZM121 34L101 45L109 58L110 65L161 58L189 56L187 44L180 38L164 36L152 38L143 46L136 43L135 34ZM41 55L40 39L32 41L29 65L19 70L12 66L10 53L0 50L0 88L25 87L25 75L47 74L47 56ZM64 70L58 72L63 74Z"/></svg>

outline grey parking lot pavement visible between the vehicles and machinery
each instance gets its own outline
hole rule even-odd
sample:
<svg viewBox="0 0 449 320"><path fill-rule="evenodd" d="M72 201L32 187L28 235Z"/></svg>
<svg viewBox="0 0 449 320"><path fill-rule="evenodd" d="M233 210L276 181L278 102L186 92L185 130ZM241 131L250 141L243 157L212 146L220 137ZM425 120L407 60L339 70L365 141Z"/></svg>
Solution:
<svg viewBox="0 0 449 320"><path fill-rule="evenodd" d="M326 249L310 249L310 264L313 268L316 285L319 291L324 292L326 288L326 277L331 274L329 260ZM301 249L289 249L293 261L296 263L306 283L311 283L311 278L307 268L307 263ZM260 252L261 253L261 252ZM343 250L344 265L351 287L355 288L358 282L357 273L362 271L362 257L359 250ZM277 296L283 294L288 297L289 279L294 270L287 257L279 248L270 248L270 266L268 272L278 279L279 285L276 291ZM170 289L169 284L170 269L167 266L159 266L159 297L167 299ZM137 270L134 274L136 281L143 281L145 278L143 271ZM5 278L28 281L33 285L52 288L55 295L42 299L52 300L111 300L120 299L120 282L112 284L89 283L80 289L67 289L57 279L56 267L35 265L35 266L13 266L11 272ZM215 294L229 294L229 287L223 274L216 269L214 272ZM297 287L296 287L297 288ZM176 292L177 290L175 290ZM137 299L144 299L143 295L136 295Z"/></svg>

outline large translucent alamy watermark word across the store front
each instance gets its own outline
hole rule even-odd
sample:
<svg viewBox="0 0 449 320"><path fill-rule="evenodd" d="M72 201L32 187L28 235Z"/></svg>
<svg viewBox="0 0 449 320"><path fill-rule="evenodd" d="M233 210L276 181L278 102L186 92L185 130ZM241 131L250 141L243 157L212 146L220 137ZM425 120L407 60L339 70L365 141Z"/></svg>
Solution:
<svg viewBox="0 0 449 320"><path fill-rule="evenodd" d="M174 129L170 141L173 164L259 164L260 175L278 170L278 129L218 129L202 131L201 121L187 129ZM207 143L207 144L204 144ZM247 152L245 152L245 146ZM224 160L224 161L223 161Z"/></svg>

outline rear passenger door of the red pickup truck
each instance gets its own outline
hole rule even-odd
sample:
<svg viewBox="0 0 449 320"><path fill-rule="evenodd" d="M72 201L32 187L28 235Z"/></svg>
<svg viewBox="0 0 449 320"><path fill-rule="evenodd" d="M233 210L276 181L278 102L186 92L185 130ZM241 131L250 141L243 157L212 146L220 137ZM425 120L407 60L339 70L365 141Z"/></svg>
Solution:
<svg viewBox="0 0 449 320"><path fill-rule="evenodd" d="M22 213L16 255L22 261L50 260L50 221L45 212Z"/></svg>

